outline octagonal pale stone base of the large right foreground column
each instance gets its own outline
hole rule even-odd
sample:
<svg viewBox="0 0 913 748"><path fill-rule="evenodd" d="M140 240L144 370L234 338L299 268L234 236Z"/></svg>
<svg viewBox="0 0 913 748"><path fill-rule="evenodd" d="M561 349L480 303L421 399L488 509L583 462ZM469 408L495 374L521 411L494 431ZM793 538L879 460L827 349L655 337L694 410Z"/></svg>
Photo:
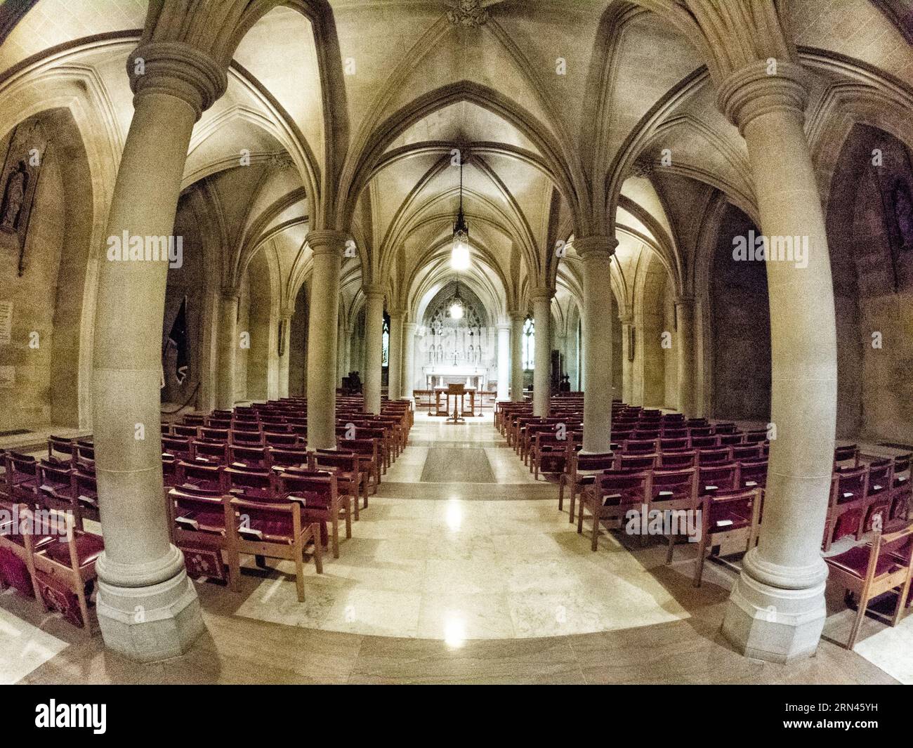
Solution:
<svg viewBox="0 0 913 748"><path fill-rule="evenodd" d="M782 589L742 571L729 595L723 636L745 657L791 662L813 656L826 615L824 582Z"/></svg>

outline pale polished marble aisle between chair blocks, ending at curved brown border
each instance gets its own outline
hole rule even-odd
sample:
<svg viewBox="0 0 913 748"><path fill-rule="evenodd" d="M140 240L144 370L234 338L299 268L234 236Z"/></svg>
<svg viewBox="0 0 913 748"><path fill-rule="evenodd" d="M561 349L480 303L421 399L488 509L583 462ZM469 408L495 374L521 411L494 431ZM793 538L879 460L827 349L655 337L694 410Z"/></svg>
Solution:
<svg viewBox="0 0 913 748"><path fill-rule="evenodd" d="M382 480L340 558L324 556L322 575L310 565L305 603L292 576L258 581L250 568L235 615L454 643L688 616L614 538L590 551L558 511L557 487L533 479L491 415L454 425L417 413Z"/></svg>

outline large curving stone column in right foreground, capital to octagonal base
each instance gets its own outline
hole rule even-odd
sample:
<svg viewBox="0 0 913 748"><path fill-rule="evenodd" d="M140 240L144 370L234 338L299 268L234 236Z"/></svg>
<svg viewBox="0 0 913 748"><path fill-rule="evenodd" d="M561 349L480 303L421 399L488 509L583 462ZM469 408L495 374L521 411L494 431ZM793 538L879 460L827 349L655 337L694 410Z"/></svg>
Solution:
<svg viewBox="0 0 913 748"><path fill-rule="evenodd" d="M761 230L808 239L805 261L767 262L771 306L771 441L761 540L742 563L723 622L746 655L813 654L824 627L821 539L834 464L837 353L834 287L821 199L803 132L803 70L759 62L729 75L719 106L739 126L757 185ZM804 267L803 267L804 266Z"/></svg>

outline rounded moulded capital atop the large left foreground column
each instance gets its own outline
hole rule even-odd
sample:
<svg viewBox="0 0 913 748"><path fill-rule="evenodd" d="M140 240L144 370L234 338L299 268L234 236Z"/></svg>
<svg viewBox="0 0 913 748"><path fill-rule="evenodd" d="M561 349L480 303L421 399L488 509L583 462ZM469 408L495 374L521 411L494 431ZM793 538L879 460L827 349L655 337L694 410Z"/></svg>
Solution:
<svg viewBox="0 0 913 748"><path fill-rule="evenodd" d="M199 120L228 87L226 69L214 58L185 42L142 44L127 59L133 105L159 93L185 101Z"/></svg>

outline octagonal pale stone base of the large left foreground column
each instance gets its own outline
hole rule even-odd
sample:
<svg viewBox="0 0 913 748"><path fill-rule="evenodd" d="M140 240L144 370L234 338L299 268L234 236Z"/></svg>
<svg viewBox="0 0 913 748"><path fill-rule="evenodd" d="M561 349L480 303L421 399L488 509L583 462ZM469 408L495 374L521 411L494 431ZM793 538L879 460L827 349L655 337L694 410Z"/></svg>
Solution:
<svg viewBox="0 0 913 748"><path fill-rule="evenodd" d="M182 567L156 585L99 580L97 612L105 646L137 662L183 655L205 631L194 584Z"/></svg>

